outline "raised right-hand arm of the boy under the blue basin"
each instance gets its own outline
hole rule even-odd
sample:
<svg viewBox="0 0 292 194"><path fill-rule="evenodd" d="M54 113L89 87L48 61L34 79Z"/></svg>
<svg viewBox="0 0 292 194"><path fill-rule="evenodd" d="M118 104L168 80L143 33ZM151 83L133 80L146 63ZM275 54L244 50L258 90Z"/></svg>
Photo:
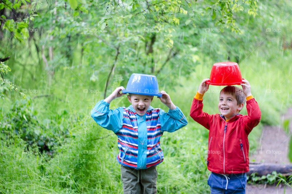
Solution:
<svg viewBox="0 0 292 194"><path fill-rule="evenodd" d="M162 97L159 99L163 104L169 108L169 112L166 113L164 110L160 109L159 119L162 131L174 132L188 124L185 115L175 106L170 99L170 96L165 92L161 91Z"/></svg>

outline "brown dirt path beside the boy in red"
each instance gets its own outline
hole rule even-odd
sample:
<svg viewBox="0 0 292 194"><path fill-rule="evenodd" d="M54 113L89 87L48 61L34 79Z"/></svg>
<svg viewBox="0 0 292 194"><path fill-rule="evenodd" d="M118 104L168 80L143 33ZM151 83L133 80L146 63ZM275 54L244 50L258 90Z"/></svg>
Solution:
<svg viewBox="0 0 292 194"><path fill-rule="evenodd" d="M289 130L292 132L292 108L288 109L287 113L282 116L282 123L284 120L289 119ZM283 131L282 126L266 126L263 128L262 136L260 138L260 146L254 155L250 156L250 162L261 163L277 163L287 164L290 163L288 159L288 147L290 136ZM247 194L261 194L261 193L292 193L290 187L283 185L276 186L269 185L247 185Z"/></svg>

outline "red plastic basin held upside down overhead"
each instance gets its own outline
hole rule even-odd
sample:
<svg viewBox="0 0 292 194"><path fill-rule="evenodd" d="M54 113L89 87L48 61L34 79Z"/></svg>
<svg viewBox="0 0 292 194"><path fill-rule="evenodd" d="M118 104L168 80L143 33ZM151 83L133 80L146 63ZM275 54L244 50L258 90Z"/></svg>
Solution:
<svg viewBox="0 0 292 194"><path fill-rule="evenodd" d="M214 63L210 80L206 83L210 85L240 85L243 82L238 64L235 62Z"/></svg>

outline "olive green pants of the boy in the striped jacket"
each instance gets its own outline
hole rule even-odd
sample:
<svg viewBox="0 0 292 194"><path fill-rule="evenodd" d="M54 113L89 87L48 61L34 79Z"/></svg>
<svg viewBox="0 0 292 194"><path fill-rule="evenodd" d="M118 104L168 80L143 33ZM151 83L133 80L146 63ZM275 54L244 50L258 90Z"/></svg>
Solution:
<svg viewBox="0 0 292 194"><path fill-rule="evenodd" d="M136 170L121 165L124 194L155 194L157 171L156 166Z"/></svg>

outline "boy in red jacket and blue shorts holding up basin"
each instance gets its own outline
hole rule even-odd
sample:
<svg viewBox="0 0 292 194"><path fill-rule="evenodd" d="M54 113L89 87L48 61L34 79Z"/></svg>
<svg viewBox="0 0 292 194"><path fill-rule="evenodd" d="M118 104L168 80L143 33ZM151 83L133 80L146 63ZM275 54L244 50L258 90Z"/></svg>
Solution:
<svg viewBox="0 0 292 194"><path fill-rule="evenodd" d="M261 119L258 103L247 80L242 89L226 86L220 92L221 114L203 112L203 95L209 84L204 79L193 99L190 116L209 129L207 167L211 171L208 185L211 193L245 193L246 172L249 171L248 135ZM248 115L239 114L246 100Z"/></svg>

